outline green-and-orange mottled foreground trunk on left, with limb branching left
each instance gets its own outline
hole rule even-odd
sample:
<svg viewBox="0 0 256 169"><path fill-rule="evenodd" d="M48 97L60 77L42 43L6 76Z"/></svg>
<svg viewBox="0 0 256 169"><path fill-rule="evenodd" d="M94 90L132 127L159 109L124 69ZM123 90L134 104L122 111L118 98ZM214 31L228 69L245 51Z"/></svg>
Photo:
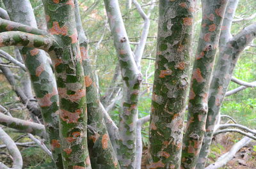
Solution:
<svg viewBox="0 0 256 169"><path fill-rule="evenodd" d="M59 47L49 52L60 98L60 140L63 168L91 168L87 145L86 89L72 0L44 0L49 33Z"/></svg>

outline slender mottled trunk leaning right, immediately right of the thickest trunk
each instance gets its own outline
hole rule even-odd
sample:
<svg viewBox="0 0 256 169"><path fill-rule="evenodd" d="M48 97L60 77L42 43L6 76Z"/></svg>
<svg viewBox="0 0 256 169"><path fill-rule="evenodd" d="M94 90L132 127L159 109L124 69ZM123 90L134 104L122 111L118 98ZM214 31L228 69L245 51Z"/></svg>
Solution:
<svg viewBox="0 0 256 169"><path fill-rule="evenodd" d="M195 168L207 118L207 98L227 0L202 0L202 25L189 91L181 168Z"/></svg>

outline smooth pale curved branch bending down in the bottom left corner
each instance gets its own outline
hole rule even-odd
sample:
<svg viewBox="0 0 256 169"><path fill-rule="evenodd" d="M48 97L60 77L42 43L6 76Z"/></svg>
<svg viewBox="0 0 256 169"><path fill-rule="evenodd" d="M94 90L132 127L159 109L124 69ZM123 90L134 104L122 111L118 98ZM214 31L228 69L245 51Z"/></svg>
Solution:
<svg viewBox="0 0 256 169"><path fill-rule="evenodd" d="M6 145L8 151L13 157L13 169L22 169L23 161L22 161L22 156L20 154L20 151L13 142L12 138L8 136L4 130L0 127L0 140Z"/></svg>

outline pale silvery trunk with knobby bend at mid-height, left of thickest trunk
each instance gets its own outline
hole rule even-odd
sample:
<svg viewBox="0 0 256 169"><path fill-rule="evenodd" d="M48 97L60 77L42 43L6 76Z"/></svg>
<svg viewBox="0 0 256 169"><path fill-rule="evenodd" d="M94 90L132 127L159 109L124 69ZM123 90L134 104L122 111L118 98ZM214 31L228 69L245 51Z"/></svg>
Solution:
<svg viewBox="0 0 256 169"><path fill-rule="evenodd" d="M104 0L104 3L124 80L117 157L121 168L132 169L136 161L136 121L142 78L129 45L118 1Z"/></svg>

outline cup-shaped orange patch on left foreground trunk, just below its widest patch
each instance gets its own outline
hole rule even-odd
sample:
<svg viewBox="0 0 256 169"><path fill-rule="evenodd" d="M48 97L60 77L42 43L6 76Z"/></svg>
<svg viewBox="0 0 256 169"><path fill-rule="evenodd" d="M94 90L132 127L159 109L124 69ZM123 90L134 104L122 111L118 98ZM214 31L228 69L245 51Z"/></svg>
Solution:
<svg viewBox="0 0 256 169"><path fill-rule="evenodd" d="M67 110L60 109L60 117L63 121L67 123L77 122L81 114L82 114L81 109L77 109L75 112L68 112Z"/></svg>

